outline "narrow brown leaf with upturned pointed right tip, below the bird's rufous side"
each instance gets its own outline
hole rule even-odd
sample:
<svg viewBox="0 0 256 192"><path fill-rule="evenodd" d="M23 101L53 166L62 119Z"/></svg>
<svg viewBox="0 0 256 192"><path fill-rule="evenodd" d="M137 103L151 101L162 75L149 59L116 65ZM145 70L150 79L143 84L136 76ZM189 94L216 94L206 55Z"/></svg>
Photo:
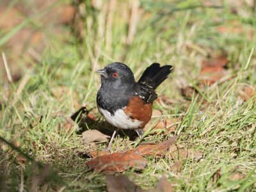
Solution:
<svg viewBox="0 0 256 192"><path fill-rule="evenodd" d="M163 141L159 144L145 144L139 145L135 152L140 156L150 156L150 155L162 155L166 150L177 140L180 135L173 136L169 140Z"/></svg>

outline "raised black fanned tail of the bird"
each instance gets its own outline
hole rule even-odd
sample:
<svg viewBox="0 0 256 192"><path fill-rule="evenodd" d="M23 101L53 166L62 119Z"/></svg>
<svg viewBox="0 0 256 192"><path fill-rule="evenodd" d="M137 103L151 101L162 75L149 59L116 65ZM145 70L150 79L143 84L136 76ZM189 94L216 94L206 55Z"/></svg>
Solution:
<svg viewBox="0 0 256 192"><path fill-rule="evenodd" d="M153 63L146 68L138 83L156 89L159 84L163 83L172 70L172 65L164 65L163 67L160 67L159 63Z"/></svg>

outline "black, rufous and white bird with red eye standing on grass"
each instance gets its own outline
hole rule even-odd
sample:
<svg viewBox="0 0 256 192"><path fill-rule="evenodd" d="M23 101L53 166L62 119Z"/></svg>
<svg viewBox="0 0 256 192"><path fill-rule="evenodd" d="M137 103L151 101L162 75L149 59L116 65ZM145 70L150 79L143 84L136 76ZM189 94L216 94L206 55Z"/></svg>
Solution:
<svg viewBox="0 0 256 192"><path fill-rule="evenodd" d="M152 63L138 82L127 65L113 62L97 70L101 86L97 92L97 107L106 121L118 129L133 129L141 138L143 128L152 116L152 104L157 99L156 88L173 71L172 65L160 67ZM113 132L106 150L111 148Z"/></svg>

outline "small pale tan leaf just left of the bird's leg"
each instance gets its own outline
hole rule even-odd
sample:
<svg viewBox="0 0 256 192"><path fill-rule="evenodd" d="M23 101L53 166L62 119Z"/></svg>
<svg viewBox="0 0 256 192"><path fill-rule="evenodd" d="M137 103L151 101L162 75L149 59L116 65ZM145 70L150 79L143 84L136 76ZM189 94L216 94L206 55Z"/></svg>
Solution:
<svg viewBox="0 0 256 192"><path fill-rule="evenodd" d="M82 133L82 136L83 143L86 144L92 143L93 141L108 141L108 138L110 138L110 136L103 134L96 129L84 131Z"/></svg>

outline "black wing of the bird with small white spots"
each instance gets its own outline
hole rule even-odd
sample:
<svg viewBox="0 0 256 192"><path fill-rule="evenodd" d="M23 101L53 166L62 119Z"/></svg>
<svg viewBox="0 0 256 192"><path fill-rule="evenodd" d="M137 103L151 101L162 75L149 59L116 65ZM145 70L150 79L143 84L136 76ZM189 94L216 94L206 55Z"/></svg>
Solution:
<svg viewBox="0 0 256 192"><path fill-rule="evenodd" d="M152 103L157 99L157 93L150 87L138 83L133 93L134 96L139 96L145 104Z"/></svg>

